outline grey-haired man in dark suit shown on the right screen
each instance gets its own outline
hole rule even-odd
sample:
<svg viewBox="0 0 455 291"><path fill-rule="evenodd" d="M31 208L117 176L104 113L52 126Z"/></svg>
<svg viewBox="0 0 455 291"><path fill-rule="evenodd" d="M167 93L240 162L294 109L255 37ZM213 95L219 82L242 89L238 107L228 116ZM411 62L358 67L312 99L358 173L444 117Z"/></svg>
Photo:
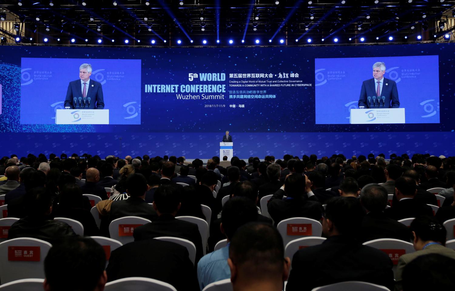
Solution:
<svg viewBox="0 0 455 291"><path fill-rule="evenodd" d="M384 78L385 64L373 65L373 78L362 83L359 108L399 108L398 89L395 81Z"/></svg>

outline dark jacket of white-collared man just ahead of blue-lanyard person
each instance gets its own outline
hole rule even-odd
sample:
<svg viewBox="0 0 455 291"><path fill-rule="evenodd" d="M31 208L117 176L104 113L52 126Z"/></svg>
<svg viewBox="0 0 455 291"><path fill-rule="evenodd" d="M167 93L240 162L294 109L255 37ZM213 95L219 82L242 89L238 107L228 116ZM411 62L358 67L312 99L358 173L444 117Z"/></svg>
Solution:
<svg viewBox="0 0 455 291"><path fill-rule="evenodd" d="M387 217L394 220L419 217L420 215L433 216L433 210L427 204L423 204L415 199L404 199L392 204L392 207L385 209Z"/></svg>

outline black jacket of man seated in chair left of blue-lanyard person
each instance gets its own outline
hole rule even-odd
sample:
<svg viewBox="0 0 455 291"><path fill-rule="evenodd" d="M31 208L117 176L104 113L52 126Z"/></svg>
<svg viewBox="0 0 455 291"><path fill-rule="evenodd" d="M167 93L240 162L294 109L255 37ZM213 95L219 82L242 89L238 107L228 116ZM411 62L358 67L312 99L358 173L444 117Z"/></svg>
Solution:
<svg viewBox="0 0 455 291"><path fill-rule="evenodd" d="M407 226L385 216L384 212L369 212L362 220L359 232L360 242L376 239L397 239L409 242L410 230Z"/></svg>

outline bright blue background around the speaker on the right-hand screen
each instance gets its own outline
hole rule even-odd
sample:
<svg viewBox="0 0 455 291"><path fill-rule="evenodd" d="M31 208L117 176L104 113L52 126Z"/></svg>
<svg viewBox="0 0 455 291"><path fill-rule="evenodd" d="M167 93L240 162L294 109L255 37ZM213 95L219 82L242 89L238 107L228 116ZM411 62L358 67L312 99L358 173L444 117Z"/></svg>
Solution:
<svg viewBox="0 0 455 291"><path fill-rule="evenodd" d="M406 123L439 123L438 56L377 56L314 61L316 124L349 124L349 111L359 108L362 82L373 79L377 61L386 65L384 78L396 82Z"/></svg>

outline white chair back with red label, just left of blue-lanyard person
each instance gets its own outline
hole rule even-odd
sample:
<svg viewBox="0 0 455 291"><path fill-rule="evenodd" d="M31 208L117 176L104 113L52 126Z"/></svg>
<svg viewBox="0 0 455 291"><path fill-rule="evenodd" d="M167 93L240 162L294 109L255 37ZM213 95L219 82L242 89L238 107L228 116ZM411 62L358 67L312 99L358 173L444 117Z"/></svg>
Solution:
<svg viewBox="0 0 455 291"><path fill-rule="evenodd" d="M371 246L378 250L382 250L384 253L389 255L390 260L392 260L392 263L394 264L392 268L394 272L396 270L396 266L398 265L400 256L415 252L414 245L404 240L377 239L369 240L363 244Z"/></svg>

